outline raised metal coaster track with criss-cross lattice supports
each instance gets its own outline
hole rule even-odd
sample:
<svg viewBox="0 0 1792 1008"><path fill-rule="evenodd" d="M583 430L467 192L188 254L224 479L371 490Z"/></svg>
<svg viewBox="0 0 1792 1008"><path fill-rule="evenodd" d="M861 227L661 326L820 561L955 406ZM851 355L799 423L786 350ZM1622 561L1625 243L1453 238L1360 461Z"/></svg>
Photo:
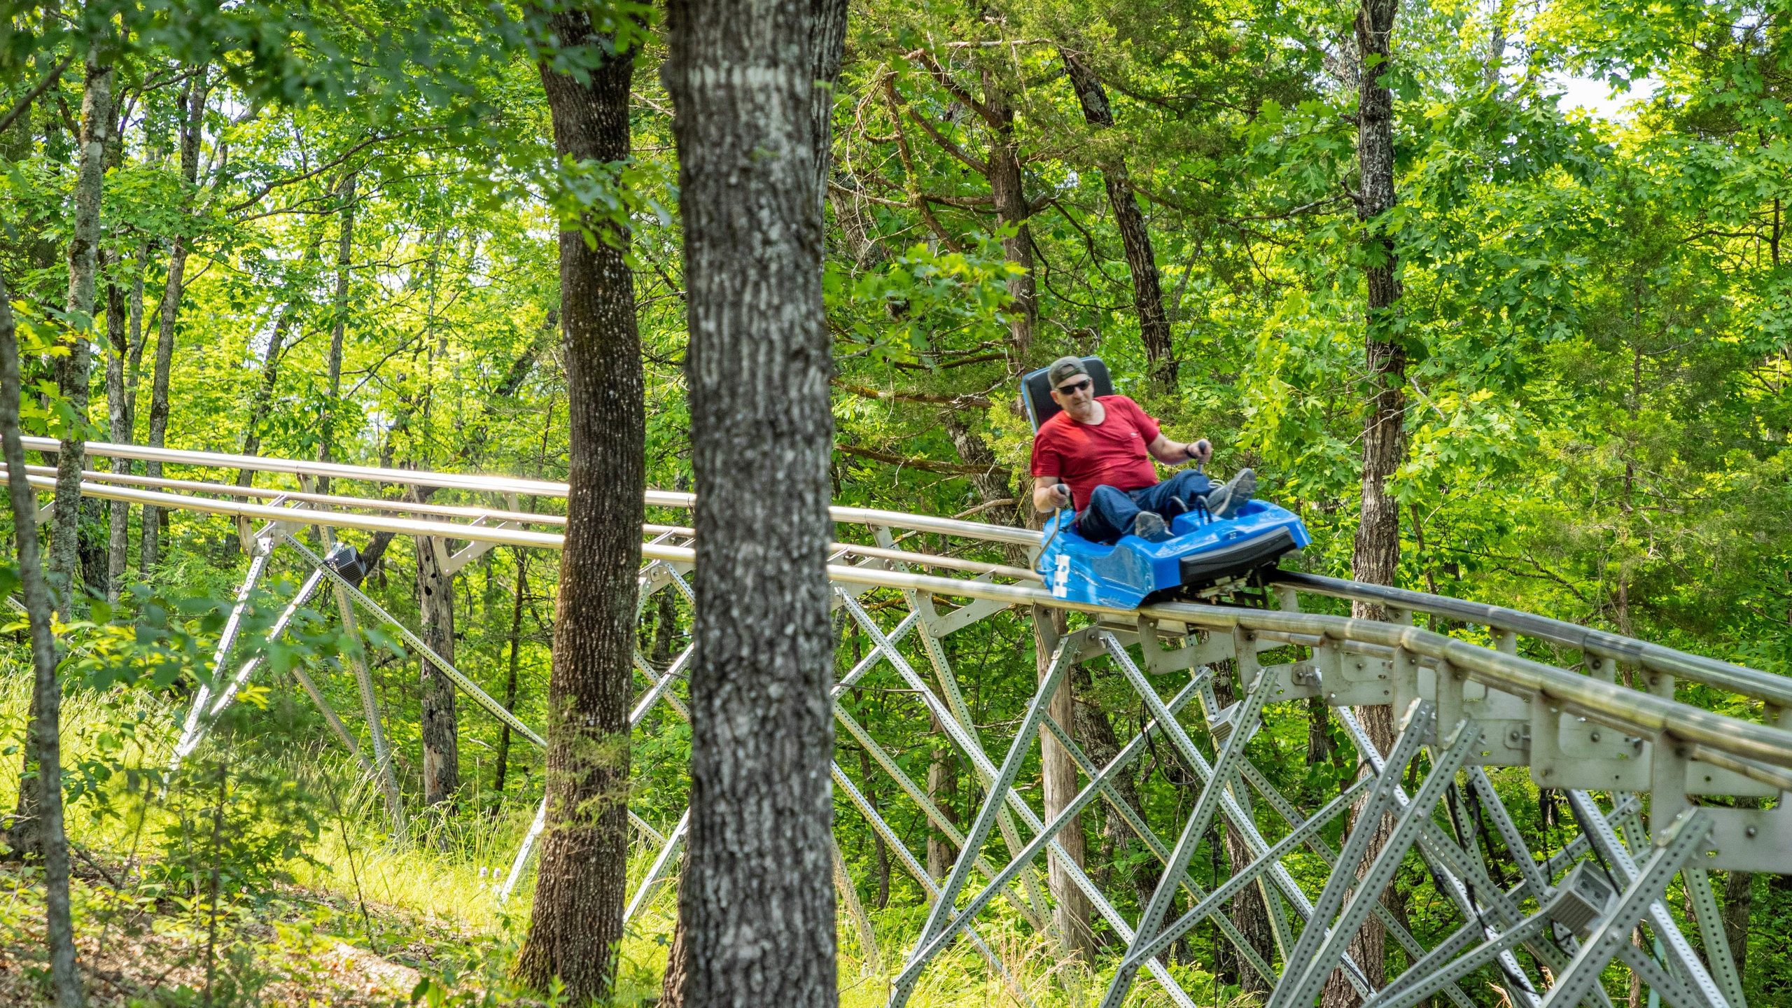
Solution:
<svg viewBox="0 0 1792 1008"><path fill-rule="evenodd" d="M32 450L56 448L56 441L48 439L25 441ZM285 540L294 547L287 556L312 569L314 578L308 585L314 587L315 570L323 570L321 561L296 538L306 526L321 531L358 529L434 536L443 540L443 556L450 556L448 540L475 543L468 547L470 552L487 549L480 543L539 549L563 545L557 531L523 527L559 526L563 518L520 511L516 506L518 495L564 499L566 484L561 482L106 443L90 443L88 452L213 472L251 470L296 481L299 484L296 490L238 488L208 479L149 481L93 472L82 484L82 493L91 497L220 515L237 518L238 524L265 522L267 527L254 536L240 526L246 538L267 543L254 552L251 581L267 569L272 543ZM375 490L373 495L362 497L323 495L312 490L310 481L317 477L355 481ZM54 490L54 481L47 475L34 472L30 481L39 490ZM448 488L471 495L473 502L405 504L378 497L382 486ZM480 495L495 499L491 509L478 504ZM502 499L502 508L496 499ZM654 508L688 509L694 502L688 493L649 491L647 495L647 504ZM885 936L885 951L878 951L874 924L853 891L855 882L846 865L837 865L835 884L842 888L842 906L853 922L851 934L862 949L866 969L887 970L892 981L892 1006L905 1004L912 992L926 983L930 960L961 936L989 961L1000 990L1018 1003L1032 1001L1038 990L1029 992L1027 976L1029 970L1038 974L1038 965L1029 967L1020 958L1011 958L1016 954L1011 943L986 942L977 920L1014 913L1021 922L1048 931L1050 915L1041 913L1045 908L1039 906L1045 899L1039 856L1045 852L1064 866L1063 875L1068 884L1082 890L1097 908L1107 940L1124 945L1109 947L1111 958L1104 960L1106 967L1097 963L1102 969L1100 983L1106 986L1104 1004L1109 1006L1127 1001L1134 976L1142 969L1172 1003L1193 1004L1190 992L1177 986L1161 956L1168 954L1176 934L1186 933L1202 918L1219 924L1220 933L1238 945L1242 960L1256 963L1258 970L1274 979L1271 1004L1306 1004L1335 970L1342 970L1371 1004L1414 1004L1437 992L1457 1004L1466 1004L1469 999L1459 983L1482 970L1511 992L1514 1003L1521 1001L1529 1008L1570 1003L1609 1006L1598 986L1598 974L1613 958L1624 960L1670 1004L1695 1008L1744 1004L1740 979L1727 969L1729 951L1717 904L1710 897L1706 870L1792 872L1792 809L1783 802L1785 791L1792 789L1792 732L1783 726L1785 708L1792 707L1792 682L1534 613L1312 574L1281 574L1274 585L1279 603L1274 610L1192 603L1138 610L1070 604L1034 587L1027 570L900 549L901 540L892 534L928 533L957 540L969 549L993 551L1009 545L1038 549L1038 533L864 508L833 508L833 518L840 526L862 529L864 538L878 543L835 543L833 563L828 567L837 604L846 606L874 642L871 655L842 678L840 689L862 683L867 676L894 673L903 680L903 694L919 703L916 714L941 723L946 739L977 769L986 787L984 805L973 818L971 829L957 832L957 827L932 805L925 787L887 757L864 725L835 705L842 726L866 744L867 752L878 753L882 771L894 778L894 791L905 795L918 814L930 816L935 827L946 829L959 847L950 877L939 884L921 873L921 861L909 850L896 852L898 865L918 873L923 893L934 904L919 936L896 936L907 943L901 961L889 951L892 936ZM686 603L694 601L685 579L695 563L692 529L649 526L643 536L650 538L642 547L642 608L649 595L668 588L679 592ZM846 563L848 558L857 558L857 563ZM959 576L918 574L914 567ZM337 581L328 570L324 578ZM998 583L996 578L1012 583ZM244 595L247 588L246 583ZM907 612L885 603L878 606L878 619L873 619L857 599L880 590L889 592L898 603L907 603ZM1389 621L1301 612L1303 595L1374 603L1389 612ZM391 619L360 592L342 592L340 599L344 615L351 615L353 604L375 619ZM946 599L959 608L943 612ZM957 678L939 642L971 622L1016 606L1032 619L1041 619L1054 608L1082 613L1079 619L1084 626L1054 644L1052 674L1030 698L1021 730L986 739L968 723L968 710L957 701ZM880 621L892 612L896 621L880 626ZM1414 613L1486 628L1493 646L1477 646L1416 628ZM1047 630L1048 626L1045 624ZM1047 631L1041 639L1052 640L1054 635ZM1521 639L1550 646L1538 653L1577 651L1581 665L1563 669L1520 656ZM914 673L907 651L926 658L941 678L943 696L953 703L934 698L932 689ZM219 674L229 665L231 653L233 640L228 635L215 656ZM1263 664L1269 656L1278 660ZM539 744L539 735L496 707L496 701L471 680L435 655L426 658L443 665L470 698L493 708L495 716L511 721ZM1091 764L1064 726L1045 717L1052 692L1068 689L1063 685L1068 680L1066 669L1097 658L1115 662L1125 673L1125 683L1140 705L1154 714L1143 735L1131 743L1122 741L1124 759L1116 759L1111 768ZM645 687L633 716L634 725L649 723L647 714L659 703L683 714L683 669L688 660L686 651L665 673L652 669L645 660L638 662ZM1211 674L1233 674L1213 671L1228 669L1220 665L1222 660L1229 660L1229 667L1236 669L1240 680L1235 689L1244 698L1224 710L1211 703L1210 685ZM229 689L215 698L206 694L208 707L195 705L183 734L183 753L202 743L211 721L254 667L253 662L246 662ZM1636 687L1622 685L1620 671ZM1727 717L1677 703L1674 687L1681 680L1760 701L1763 719ZM1193 705L1201 716L1176 714L1193 694L1204 694L1204 701ZM1357 800L1369 802L1371 809L1369 814L1357 818L1376 821L1380 820L1376 811L1394 816L1385 847L1376 848L1369 834L1353 830L1346 834L1342 852L1333 850L1319 838L1319 823L1339 814L1339 802L1319 811L1319 820L1310 818L1274 791L1272 777L1253 764L1253 755L1258 755L1260 748L1249 743L1263 725L1263 717L1278 705L1305 707L1308 698L1324 698L1349 728L1367 775L1357 782L1362 795ZM317 700L321 701L321 694ZM1403 716L1400 741L1389 753L1374 748L1351 714L1357 707L1371 705L1392 705L1396 716ZM328 714L333 717L333 712ZM373 716L376 712L369 714ZM332 723L340 726L340 719ZM383 748L380 728L376 725L366 728L375 739L375 748ZM1055 734L1075 755L1086 786L1066 809L1036 811L1016 789L1016 771L1030 759L1032 746L1047 732ZM339 734L346 744L357 746L346 728ZM1165 737L1186 764L1201 771L1202 784L1193 795L1193 811L1183 821L1150 821L1143 809L1127 807L1111 784L1111 775L1142 752L1140 746L1147 744L1145 735L1150 734ZM1213 753L1213 759L1202 753L1202 744L1210 746L1206 752ZM993 759L986 746L998 746L1005 755L1000 760ZM1405 777L1409 766L1421 752L1428 755L1419 766L1428 771L1409 780ZM387 757L382 752L378 759L383 764ZM1502 766L1527 769L1498 775L1496 780L1484 771ZM901 841L887 821L889 811L880 814L862 793L862 784L855 786L839 766L833 773L842 793L853 798L846 809L864 814L885 843L900 847ZM1500 789L1495 787L1496 782ZM1416 787L1410 796L1409 787ZM1536 857L1502 805L1502 789L1511 796L1514 787L1566 791L1590 836L1566 843L1550 859ZM1600 804L1595 791L1609 798ZM1638 804L1633 795L1640 791L1652 796L1649 823L1652 836L1643 834L1634 820ZM1473 836L1464 838L1455 832L1460 827L1459 820L1441 820L1437 809L1444 796L1452 796L1453 802L1457 795L1469 793L1486 820L1493 823L1489 829L1496 830L1505 848L1503 856L1520 866L1521 881L1511 890L1495 881L1503 870L1493 870L1489 875L1489 865L1484 861L1493 839L1486 839L1484 850ZM1767 811L1695 807L1690 796L1699 795L1779 798L1779 802ZM1262 807L1254 805L1258 798ZM1075 812L1095 809L1097 802L1106 802L1107 814L1118 816L1118 821L1138 834L1168 868L1147 908L1127 909L1133 906L1131 893L1104 893L1091 873L1072 863L1057 845L1057 830L1064 829ZM394 816L398 814L394 807ZM1271 843L1258 832L1258 823L1267 821L1265 816L1283 820L1279 834L1285 839ZM502 895L509 895L523 877L539 821L541 816L518 852ZM652 838L649 843L658 848L658 856L654 870L629 900L631 915L656 899L656 882L670 870L674 847L681 839L674 823L654 829L636 821L643 827L643 836ZM1206 897L1188 872L1188 856L1206 834L1208 821L1224 821L1256 859L1236 879L1220 884L1220 893L1263 897L1272 915L1274 947L1251 945L1249 938L1220 915L1222 899ZM1625 825L1627 829L1620 829ZM1174 847L1167 845L1159 836L1161 830L1174 830L1181 839ZM1625 847L1622 836L1636 847ZM1303 890L1288 872L1287 859L1301 847L1317 852L1331 866L1322 891ZM1344 949L1349 947L1355 931L1371 918L1382 925L1391 924L1374 893L1392 877L1409 850L1419 854L1439 891L1457 908L1460 924L1453 936L1430 947L1396 927L1394 936L1407 945L1409 961L1416 965L1398 978L1387 978L1382 976L1378 963L1355 963ZM1566 902L1561 902L1572 899L1561 890L1564 873L1590 850L1613 866L1616 875L1609 877L1622 886L1609 904L1593 908L1591 922L1586 913L1581 917L1568 913L1563 909ZM1358 872L1367 882L1358 881ZM1695 920L1676 918L1661 900L1667 881L1681 872L1688 884L1697 884L1704 893L1692 900L1697 909ZM1188 890L1199 908L1181 920L1172 920L1167 911L1177 888ZM1557 920L1573 920L1581 925L1588 943L1581 945L1566 927L1555 924ZM1643 920L1659 940L1658 949L1663 956L1659 961L1643 956L1627 940L1613 938L1627 936L1638 920ZM1720 967L1715 970L1717 976L1706 970L1704 961L1681 934L1681 929L1693 927L1701 933L1704 952ZM1055 936L1048 940L1055 942ZM1550 974L1525 974L1512 954L1516 947L1530 949L1534 961L1548 965Z"/></svg>

